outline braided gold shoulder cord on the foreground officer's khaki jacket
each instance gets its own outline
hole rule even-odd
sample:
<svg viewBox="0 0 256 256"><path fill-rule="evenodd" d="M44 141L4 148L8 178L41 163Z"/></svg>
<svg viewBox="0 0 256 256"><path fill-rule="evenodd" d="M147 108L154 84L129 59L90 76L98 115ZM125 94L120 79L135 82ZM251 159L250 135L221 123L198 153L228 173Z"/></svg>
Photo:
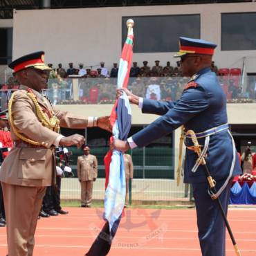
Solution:
<svg viewBox="0 0 256 256"><path fill-rule="evenodd" d="M49 119L48 116L46 116L46 114L44 113L44 111L42 111L42 108L39 106L35 95L30 92L28 92L27 95L35 104L35 109L37 111L37 118L39 119L40 122L42 122L42 125L44 125L45 127L49 128L53 131L59 132L60 131L60 120L56 116L53 116ZM12 96L8 103L9 120L10 120L10 125L12 127L13 132L15 133L15 135L18 138L20 138L21 140L24 140L26 143L30 143L33 145L41 145L41 143L39 143L35 140L26 138L24 135L21 134L21 131L19 131L19 129L17 129L17 127L15 127L15 124L14 124L13 118L12 118L12 102L13 102L14 97L15 97L15 92L12 93Z"/></svg>

